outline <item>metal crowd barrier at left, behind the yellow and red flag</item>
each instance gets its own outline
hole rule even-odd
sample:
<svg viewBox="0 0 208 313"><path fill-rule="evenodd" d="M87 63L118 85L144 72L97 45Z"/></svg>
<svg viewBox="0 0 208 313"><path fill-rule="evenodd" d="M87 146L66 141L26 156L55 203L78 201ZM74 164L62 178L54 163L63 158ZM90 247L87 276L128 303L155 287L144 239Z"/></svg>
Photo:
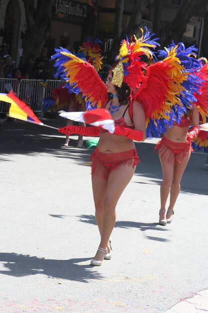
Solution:
<svg viewBox="0 0 208 313"><path fill-rule="evenodd" d="M42 104L46 97L52 97L51 90L58 88L64 83L63 80L46 81L40 79L18 79L15 78L0 78L0 93L8 93L11 90L16 96L28 104L35 113L43 116ZM0 101L0 113L8 112L9 103Z"/></svg>

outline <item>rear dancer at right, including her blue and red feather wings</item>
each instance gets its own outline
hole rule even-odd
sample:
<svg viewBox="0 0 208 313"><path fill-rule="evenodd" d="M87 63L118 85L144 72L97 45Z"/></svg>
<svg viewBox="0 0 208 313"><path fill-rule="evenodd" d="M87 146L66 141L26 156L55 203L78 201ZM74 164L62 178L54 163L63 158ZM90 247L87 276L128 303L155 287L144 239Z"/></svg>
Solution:
<svg viewBox="0 0 208 313"><path fill-rule="evenodd" d="M191 49L191 47L188 49ZM183 48L180 52L184 52L185 55L186 50ZM187 58L188 57L190 59L190 54L187 55ZM184 59L187 60L187 58ZM190 72L190 68L186 68L187 64L191 64ZM206 131L201 131L199 124L200 113L204 121L206 120L206 116L208 116L208 63L203 66L200 59L195 59L195 64L197 65L196 71L193 70L194 66L192 62L187 62L187 64L185 64L185 70L182 72L184 72L185 75L188 74L187 81L189 81L189 77L191 78L190 89L188 89L186 81L186 89L188 89L187 97L189 97L190 103L185 105L186 111L183 114L179 114L179 118L177 121L174 121L173 126L166 127L166 132L155 147L155 149L159 150L163 171L163 181L160 189L160 225L166 225L172 221L174 206L180 193L181 179L190 159L191 152L193 151L192 145L194 147L197 145L205 146L206 141L205 137L203 137L203 133L206 133ZM192 79L193 77L194 79ZM193 97L191 98L191 96ZM182 96L182 101L185 98L186 95ZM191 131L190 125L193 126ZM170 202L166 211L169 193Z"/></svg>

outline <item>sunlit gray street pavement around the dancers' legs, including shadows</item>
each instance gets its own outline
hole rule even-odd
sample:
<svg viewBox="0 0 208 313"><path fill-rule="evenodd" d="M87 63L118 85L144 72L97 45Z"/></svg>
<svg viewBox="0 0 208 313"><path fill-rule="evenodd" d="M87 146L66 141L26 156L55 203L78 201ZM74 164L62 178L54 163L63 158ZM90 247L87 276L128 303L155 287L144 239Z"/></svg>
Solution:
<svg viewBox="0 0 208 313"><path fill-rule="evenodd" d="M192 153L173 222L160 226L157 139L137 142L141 163L118 202L113 258L92 267L93 149L76 148L76 139L63 148L54 129L0 125L0 312L208 311L206 154Z"/></svg>

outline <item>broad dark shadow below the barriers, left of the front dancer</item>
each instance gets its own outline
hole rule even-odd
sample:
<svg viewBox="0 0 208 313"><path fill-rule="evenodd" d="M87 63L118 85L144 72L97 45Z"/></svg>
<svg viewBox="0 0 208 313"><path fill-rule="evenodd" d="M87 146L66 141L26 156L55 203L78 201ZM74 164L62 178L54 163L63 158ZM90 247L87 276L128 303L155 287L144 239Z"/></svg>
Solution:
<svg viewBox="0 0 208 313"><path fill-rule="evenodd" d="M61 127L65 125L65 120L57 118L57 120L43 121L48 125L54 127ZM70 139L70 146L76 146L77 136ZM56 129L39 126L24 121L7 121L0 126L0 154L25 154L38 155L39 153L51 153L60 157L69 157L70 153L80 151L81 155L84 149L70 150L69 147L63 147L65 136L59 133ZM85 153L86 154L86 153ZM90 155L90 153L89 153ZM86 157L87 159L87 157ZM3 158L1 157L1 160Z"/></svg>

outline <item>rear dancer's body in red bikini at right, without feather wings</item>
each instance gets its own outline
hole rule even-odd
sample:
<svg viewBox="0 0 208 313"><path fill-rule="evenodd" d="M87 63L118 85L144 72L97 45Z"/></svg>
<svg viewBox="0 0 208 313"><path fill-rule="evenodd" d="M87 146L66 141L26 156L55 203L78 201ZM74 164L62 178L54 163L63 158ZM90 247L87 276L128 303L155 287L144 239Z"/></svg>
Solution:
<svg viewBox="0 0 208 313"><path fill-rule="evenodd" d="M194 126L189 132L190 124ZM159 150L159 157L163 171L163 181L160 188L161 208L160 225L171 223L174 214L174 205L180 192L180 182L190 159L191 141L199 132L199 112L195 104L187 109L187 114L181 121L174 122L173 127L167 127L166 133L157 143L155 149ZM170 203L166 211L166 202L170 192Z"/></svg>

